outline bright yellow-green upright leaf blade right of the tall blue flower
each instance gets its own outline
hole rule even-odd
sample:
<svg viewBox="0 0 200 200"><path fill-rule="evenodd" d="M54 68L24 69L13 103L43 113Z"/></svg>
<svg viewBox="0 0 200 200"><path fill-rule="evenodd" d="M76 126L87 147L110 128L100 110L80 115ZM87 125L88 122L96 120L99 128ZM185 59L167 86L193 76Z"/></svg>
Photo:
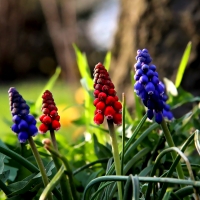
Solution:
<svg viewBox="0 0 200 200"><path fill-rule="evenodd" d="M184 53L183 53L183 56L182 56L182 59L181 59L181 62L180 62L179 68L178 68L178 72L177 72L177 75L176 75L175 85L176 85L177 88L181 84L183 74L184 74L185 68L187 66L189 57L190 57L191 48L192 48L192 42L189 42L186 46Z"/></svg>

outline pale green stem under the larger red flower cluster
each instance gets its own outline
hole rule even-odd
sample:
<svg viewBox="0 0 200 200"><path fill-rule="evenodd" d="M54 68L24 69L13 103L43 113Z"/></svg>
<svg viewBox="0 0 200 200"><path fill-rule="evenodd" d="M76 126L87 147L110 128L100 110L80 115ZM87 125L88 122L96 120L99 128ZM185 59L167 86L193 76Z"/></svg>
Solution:
<svg viewBox="0 0 200 200"><path fill-rule="evenodd" d="M113 149L113 157L114 157L114 164L115 164L115 170L116 175L121 175L121 164L120 164L120 158L119 158L119 150L117 145L117 137L115 134L114 124L113 121L107 120L108 128L110 132L111 142L112 142L112 149ZM122 200L122 184L121 182L117 182L118 187L118 194L119 194L119 200Z"/></svg>

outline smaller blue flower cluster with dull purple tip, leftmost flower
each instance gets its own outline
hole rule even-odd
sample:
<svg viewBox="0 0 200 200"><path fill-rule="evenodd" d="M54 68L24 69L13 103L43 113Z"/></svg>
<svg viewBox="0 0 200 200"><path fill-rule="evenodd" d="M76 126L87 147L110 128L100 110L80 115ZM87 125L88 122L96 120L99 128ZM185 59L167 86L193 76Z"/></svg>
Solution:
<svg viewBox="0 0 200 200"><path fill-rule="evenodd" d="M38 132L36 120L29 114L29 106L14 87L8 90L8 94L14 122L11 129L17 134L19 142L25 143L30 136L35 136Z"/></svg>

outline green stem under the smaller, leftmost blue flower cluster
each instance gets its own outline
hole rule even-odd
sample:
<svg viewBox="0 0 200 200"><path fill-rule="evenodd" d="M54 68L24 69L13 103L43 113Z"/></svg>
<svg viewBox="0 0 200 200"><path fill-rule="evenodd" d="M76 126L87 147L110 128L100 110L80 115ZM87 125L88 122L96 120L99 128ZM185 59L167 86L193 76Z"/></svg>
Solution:
<svg viewBox="0 0 200 200"><path fill-rule="evenodd" d="M43 163L42 163L42 159L41 159L41 157L40 157L40 155L39 155L39 153L38 153L38 150L37 150L37 148L36 148L36 146L35 146L35 143L34 143L34 141L33 141L33 138L32 138L32 137L29 137L29 138L28 138L28 141L29 141L29 144L30 144L30 146L31 146L31 150L32 150L32 152L33 152L33 155L34 155L34 157L35 157L35 160L36 160L36 162L37 162L37 165L38 165L38 167L39 167L39 169L40 169L40 173L41 173L41 175L42 175L42 180L43 180L43 183L44 183L44 187L46 187L46 186L48 185L49 181L48 181L48 177L47 177L47 175L46 175L46 171L45 171L44 165L43 165ZM53 197L52 197L51 193L48 195L48 199L49 199L49 200L53 200Z"/></svg>

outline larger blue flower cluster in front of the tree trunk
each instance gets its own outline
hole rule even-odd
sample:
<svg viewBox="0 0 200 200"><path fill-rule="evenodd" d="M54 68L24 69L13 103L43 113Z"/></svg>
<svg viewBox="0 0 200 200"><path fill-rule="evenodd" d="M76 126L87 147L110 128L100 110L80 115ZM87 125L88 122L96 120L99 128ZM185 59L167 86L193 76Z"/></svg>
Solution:
<svg viewBox="0 0 200 200"><path fill-rule="evenodd" d="M163 116L171 120L173 115L170 112L169 105L166 104L165 87L159 80L156 66L150 64L152 59L148 50L138 50L136 60L137 63L134 65L134 79L136 81L134 90L148 108L148 118L152 119L155 115L155 121L159 124L162 122Z"/></svg>

